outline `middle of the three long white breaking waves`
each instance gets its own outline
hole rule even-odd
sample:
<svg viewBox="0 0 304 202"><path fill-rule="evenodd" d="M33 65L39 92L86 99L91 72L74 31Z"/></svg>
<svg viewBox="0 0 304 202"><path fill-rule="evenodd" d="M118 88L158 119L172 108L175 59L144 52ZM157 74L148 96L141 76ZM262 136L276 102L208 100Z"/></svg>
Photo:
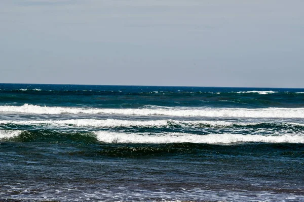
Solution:
<svg viewBox="0 0 304 202"><path fill-rule="evenodd" d="M80 126L80 127L241 127L241 126L304 126L301 123L292 122L227 122L227 121L181 121L172 119L137 121L137 120L120 120L120 119L69 119L69 120L29 120L29 121L8 121L0 120L0 125L54 125L54 126Z"/></svg>

